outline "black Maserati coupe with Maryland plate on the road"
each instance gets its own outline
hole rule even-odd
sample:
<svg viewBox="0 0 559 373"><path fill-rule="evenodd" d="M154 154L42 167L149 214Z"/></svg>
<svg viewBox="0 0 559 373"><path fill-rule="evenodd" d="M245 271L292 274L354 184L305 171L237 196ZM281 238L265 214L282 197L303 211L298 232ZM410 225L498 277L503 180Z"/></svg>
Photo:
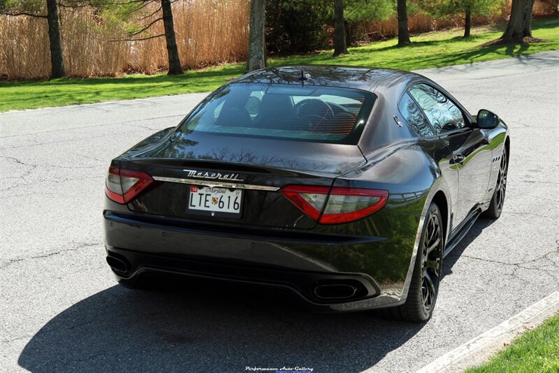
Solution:
<svg viewBox="0 0 559 373"><path fill-rule="evenodd" d="M266 68L113 159L120 284L180 275L291 292L317 312L428 319L443 258L500 216L507 126L415 73Z"/></svg>

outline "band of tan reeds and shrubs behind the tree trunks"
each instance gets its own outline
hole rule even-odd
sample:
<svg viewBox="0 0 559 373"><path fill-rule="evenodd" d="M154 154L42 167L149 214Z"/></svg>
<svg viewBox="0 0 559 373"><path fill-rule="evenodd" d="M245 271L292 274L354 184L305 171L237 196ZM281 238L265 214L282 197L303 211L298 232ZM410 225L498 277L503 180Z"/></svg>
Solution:
<svg viewBox="0 0 559 373"><path fill-rule="evenodd" d="M463 15L442 5L409 0L409 31L462 27ZM332 10L322 0L268 0L266 45L269 54L314 52L333 45ZM168 68L163 22L154 24L140 41L126 41L131 27L154 8L122 22L122 17L93 6L59 8L61 45L66 75L70 77L119 76L123 73L157 73ZM491 0L485 14L472 24L505 22L510 0ZM247 58L248 0L177 0L172 4L177 47L182 68L193 69ZM556 15L555 0L537 0L534 17ZM398 34L393 1L349 3L346 33L350 45L385 40ZM47 22L41 18L0 15L0 79L46 79L50 75Z"/></svg>

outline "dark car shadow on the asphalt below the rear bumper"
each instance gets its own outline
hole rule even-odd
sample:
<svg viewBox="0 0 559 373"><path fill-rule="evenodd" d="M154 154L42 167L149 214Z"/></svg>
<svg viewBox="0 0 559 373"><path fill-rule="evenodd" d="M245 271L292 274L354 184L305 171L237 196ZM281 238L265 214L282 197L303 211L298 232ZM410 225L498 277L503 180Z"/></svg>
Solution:
<svg viewBox="0 0 559 373"><path fill-rule="evenodd" d="M169 287L112 286L81 300L31 338L19 365L31 372L358 372L426 326L372 312L312 314L261 288L196 281Z"/></svg>

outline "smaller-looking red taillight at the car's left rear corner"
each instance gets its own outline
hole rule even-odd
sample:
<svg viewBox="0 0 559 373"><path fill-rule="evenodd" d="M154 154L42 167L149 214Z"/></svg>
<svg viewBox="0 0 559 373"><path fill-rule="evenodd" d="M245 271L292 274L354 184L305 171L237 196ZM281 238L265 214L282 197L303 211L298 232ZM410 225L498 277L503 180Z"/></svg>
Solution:
<svg viewBox="0 0 559 373"><path fill-rule="evenodd" d="M150 174L143 171L110 167L105 183L105 193L116 203L129 203L152 182Z"/></svg>

